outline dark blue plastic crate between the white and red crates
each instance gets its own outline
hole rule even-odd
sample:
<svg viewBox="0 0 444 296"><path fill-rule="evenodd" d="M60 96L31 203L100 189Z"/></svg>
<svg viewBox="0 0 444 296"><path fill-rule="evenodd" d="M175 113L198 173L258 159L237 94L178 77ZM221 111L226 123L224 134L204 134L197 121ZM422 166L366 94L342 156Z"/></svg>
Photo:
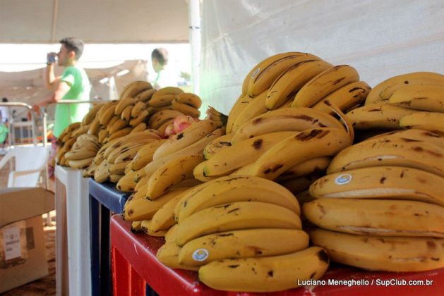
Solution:
<svg viewBox="0 0 444 296"><path fill-rule="evenodd" d="M111 295L109 219L124 211L129 196L115 187L89 180L92 295Z"/></svg>

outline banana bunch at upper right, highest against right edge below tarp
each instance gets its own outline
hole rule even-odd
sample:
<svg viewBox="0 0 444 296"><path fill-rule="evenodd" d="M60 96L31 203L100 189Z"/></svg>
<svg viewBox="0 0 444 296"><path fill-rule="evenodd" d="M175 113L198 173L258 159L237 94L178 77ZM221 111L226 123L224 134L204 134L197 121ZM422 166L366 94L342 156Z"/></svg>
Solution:
<svg viewBox="0 0 444 296"><path fill-rule="evenodd" d="M444 75L415 72L389 78L347 113L356 129L419 128L444 134Z"/></svg>

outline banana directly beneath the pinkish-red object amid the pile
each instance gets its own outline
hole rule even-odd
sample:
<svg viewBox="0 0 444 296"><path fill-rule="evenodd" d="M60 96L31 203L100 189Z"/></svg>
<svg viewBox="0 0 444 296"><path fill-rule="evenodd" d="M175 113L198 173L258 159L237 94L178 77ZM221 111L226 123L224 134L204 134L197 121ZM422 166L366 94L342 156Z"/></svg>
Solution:
<svg viewBox="0 0 444 296"><path fill-rule="evenodd" d="M212 121L205 120L193 123L184 131L170 137L167 142L164 142L164 144L157 148L153 159L160 159L168 154L175 153L180 149L188 147L214 130L216 130L216 125Z"/></svg>

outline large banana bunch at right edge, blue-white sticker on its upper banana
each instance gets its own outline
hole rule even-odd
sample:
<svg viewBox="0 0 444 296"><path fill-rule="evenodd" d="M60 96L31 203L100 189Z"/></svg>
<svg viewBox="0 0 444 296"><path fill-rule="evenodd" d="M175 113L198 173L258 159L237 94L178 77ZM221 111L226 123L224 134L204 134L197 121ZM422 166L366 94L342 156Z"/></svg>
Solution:
<svg viewBox="0 0 444 296"><path fill-rule="evenodd" d="M444 137L416 129L342 150L303 204L313 244L368 270L443 268L443 152Z"/></svg>

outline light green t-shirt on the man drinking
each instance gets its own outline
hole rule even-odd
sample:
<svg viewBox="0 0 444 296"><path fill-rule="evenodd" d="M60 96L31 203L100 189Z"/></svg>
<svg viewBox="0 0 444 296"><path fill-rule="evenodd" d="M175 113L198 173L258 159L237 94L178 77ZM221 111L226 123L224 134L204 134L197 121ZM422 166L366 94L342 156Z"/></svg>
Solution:
<svg viewBox="0 0 444 296"><path fill-rule="evenodd" d="M60 81L66 82L71 87L61 99L77 99L79 101L90 99L90 80L83 68L67 67L61 75ZM58 104L54 116L54 136L59 137L61 132L71 123L82 121L89 108L88 104Z"/></svg>

